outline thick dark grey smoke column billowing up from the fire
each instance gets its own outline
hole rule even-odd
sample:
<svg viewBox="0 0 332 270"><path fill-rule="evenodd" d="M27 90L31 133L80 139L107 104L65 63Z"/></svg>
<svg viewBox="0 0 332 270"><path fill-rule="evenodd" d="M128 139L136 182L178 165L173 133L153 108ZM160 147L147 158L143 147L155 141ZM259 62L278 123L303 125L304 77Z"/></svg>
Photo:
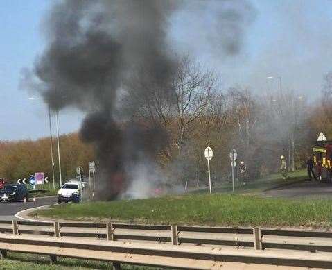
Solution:
<svg viewBox="0 0 332 270"><path fill-rule="evenodd" d="M213 22L204 31L213 31L211 37L220 35L207 42L235 54L243 35L243 11L237 10L243 10L241 3L247 1L232 3L67 0L53 7L46 20L48 47L35 65L38 89L53 110L75 106L87 113L81 134L96 145L99 180L104 183L101 198L110 199L132 186L132 168L141 167L141 157L155 160L167 144L160 126L132 121L128 115L123 118L119 101L126 87L132 87L133 77L166 85L175 74L176 51L170 44L176 41L170 42L168 35L171 19L180 10L200 17L212 6ZM143 94L145 89L137 91Z"/></svg>

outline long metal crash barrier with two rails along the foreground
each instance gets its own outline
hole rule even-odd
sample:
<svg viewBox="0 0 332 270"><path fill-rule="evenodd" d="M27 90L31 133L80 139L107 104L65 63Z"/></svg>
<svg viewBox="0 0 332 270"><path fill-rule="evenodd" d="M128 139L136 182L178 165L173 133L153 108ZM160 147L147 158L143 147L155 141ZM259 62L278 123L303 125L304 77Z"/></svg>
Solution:
<svg viewBox="0 0 332 270"><path fill-rule="evenodd" d="M234 263L332 268L332 233L319 230L0 221L0 250L3 258L7 251L40 253L51 262L57 256L105 260L115 269L121 263L184 269L222 269Z"/></svg>

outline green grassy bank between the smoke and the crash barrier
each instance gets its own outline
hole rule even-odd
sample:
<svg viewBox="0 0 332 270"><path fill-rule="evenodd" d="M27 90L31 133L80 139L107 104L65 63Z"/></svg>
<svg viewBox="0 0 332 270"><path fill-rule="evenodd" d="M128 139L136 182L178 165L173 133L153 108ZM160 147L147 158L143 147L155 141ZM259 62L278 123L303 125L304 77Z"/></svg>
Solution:
<svg viewBox="0 0 332 270"><path fill-rule="evenodd" d="M55 205L37 215L57 219L222 226L332 226L332 200L263 199L191 194L154 199Z"/></svg>

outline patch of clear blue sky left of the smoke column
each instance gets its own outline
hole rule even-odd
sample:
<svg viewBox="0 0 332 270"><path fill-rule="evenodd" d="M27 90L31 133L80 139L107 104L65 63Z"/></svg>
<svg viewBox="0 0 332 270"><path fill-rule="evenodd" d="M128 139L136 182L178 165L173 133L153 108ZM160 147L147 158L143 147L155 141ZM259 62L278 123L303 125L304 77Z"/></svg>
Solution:
<svg viewBox="0 0 332 270"><path fill-rule="evenodd" d="M44 48L42 18L51 3L46 0L0 2L0 140L49 135L46 106L36 93L21 87L20 78L22 69L32 67ZM30 101L30 96L37 99ZM60 133L78 130L81 120L78 112L60 112Z"/></svg>

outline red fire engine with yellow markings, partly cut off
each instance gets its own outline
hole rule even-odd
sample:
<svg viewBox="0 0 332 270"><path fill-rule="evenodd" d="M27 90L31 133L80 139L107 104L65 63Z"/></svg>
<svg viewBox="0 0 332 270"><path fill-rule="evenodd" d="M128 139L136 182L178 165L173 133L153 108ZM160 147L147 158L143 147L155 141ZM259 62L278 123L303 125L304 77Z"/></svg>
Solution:
<svg viewBox="0 0 332 270"><path fill-rule="evenodd" d="M313 147L315 176L318 180L332 181L332 141L318 141Z"/></svg>

